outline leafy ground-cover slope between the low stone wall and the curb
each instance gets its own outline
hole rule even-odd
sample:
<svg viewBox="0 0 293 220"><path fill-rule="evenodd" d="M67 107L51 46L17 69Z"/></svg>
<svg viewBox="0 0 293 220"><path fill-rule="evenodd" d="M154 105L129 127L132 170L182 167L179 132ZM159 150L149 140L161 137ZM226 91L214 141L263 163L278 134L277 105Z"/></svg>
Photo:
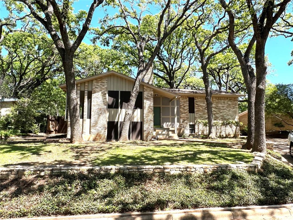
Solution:
<svg viewBox="0 0 293 220"><path fill-rule="evenodd" d="M258 173L60 173L0 185L0 218L274 205L293 202L293 170L266 158Z"/></svg>

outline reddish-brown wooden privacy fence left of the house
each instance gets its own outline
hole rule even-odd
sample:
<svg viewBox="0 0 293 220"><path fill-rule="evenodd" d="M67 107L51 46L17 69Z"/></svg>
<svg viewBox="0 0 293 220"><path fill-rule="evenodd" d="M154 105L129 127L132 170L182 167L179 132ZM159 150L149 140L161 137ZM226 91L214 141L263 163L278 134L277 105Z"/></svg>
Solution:
<svg viewBox="0 0 293 220"><path fill-rule="evenodd" d="M67 121L63 116L47 116L47 134L62 134L67 132Z"/></svg>

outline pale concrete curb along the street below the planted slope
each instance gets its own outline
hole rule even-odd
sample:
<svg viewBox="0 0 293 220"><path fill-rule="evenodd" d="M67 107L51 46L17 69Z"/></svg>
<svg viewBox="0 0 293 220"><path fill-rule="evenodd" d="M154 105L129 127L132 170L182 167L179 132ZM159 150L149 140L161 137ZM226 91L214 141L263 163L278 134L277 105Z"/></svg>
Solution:
<svg viewBox="0 0 293 220"><path fill-rule="evenodd" d="M131 212L115 214L93 214L76 216L53 216L38 218L19 218L19 220L231 220L231 219L263 219L277 217L293 218L293 204L270 206L245 206L225 208L184 209L154 212ZM15 220L15 219L4 219Z"/></svg>

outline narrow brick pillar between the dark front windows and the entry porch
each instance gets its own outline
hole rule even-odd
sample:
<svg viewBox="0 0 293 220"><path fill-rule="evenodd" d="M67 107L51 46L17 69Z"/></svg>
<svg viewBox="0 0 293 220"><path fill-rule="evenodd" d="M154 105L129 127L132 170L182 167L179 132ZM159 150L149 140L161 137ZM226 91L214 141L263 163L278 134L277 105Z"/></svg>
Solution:
<svg viewBox="0 0 293 220"><path fill-rule="evenodd" d="M154 91L144 86L144 141L151 140L154 134Z"/></svg>

